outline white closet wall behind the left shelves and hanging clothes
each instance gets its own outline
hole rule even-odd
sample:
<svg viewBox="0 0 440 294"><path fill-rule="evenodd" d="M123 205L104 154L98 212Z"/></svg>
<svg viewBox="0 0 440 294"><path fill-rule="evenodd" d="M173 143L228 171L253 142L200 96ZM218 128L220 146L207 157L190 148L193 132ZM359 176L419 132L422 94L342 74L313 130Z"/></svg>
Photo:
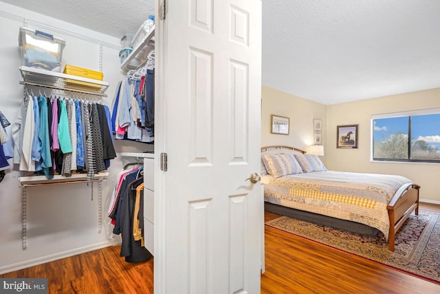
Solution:
<svg viewBox="0 0 440 294"><path fill-rule="evenodd" d="M104 81L110 84L108 97L102 101L110 107L115 87L125 75L119 68L119 39L0 2L0 111L6 118L11 123L14 121L23 98L23 85L19 85L21 61L18 39L19 28L25 21L29 28L65 39L67 45L62 68L70 64L99 71L102 42L102 72ZM7 131L10 134L10 127ZM153 147L117 141L115 149L119 154L123 151L152 150ZM111 160L110 179L127 160L120 156ZM0 273L109 245L104 227L102 233L98 233L98 184L93 186L93 200L91 185L56 185L27 189L28 249L22 251L19 176L19 171L10 169L0 182L0 223L3 227ZM109 182L103 184L103 204L107 200ZM102 217L107 218L105 213Z"/></svg>

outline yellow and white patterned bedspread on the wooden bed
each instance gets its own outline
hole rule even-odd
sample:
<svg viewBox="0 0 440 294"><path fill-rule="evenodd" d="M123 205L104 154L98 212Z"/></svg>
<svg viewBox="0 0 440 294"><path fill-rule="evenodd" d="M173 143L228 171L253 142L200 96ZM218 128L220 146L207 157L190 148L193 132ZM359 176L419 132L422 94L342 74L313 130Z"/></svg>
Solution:
<svg viewBox="0 0 440 294"><path fill-rule="evenodd" d="M325 216L360 222L379 229L388 238L386 205L403 176L315 171L274 178L262 176L265 201Z"/></svg>

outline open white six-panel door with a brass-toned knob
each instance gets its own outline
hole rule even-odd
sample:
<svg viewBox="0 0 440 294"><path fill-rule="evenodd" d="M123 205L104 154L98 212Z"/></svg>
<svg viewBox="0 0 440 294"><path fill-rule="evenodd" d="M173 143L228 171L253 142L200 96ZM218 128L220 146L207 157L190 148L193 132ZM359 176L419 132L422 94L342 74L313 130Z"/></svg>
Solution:
<svg viewBox="0 0 440 294"><path fill-rule="evenodd" d="M156 59L155 293L259 293L261 0L167 1Z"/></svg>

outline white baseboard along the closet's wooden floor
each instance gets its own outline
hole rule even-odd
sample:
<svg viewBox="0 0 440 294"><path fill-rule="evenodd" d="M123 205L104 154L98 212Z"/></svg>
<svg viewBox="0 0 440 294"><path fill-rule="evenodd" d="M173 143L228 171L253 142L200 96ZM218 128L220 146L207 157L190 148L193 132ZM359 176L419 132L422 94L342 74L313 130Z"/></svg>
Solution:
<svg viewBox="0 0 440 294"><path fill-rule="evenodd" d="M26 260L25 262L17 262L16 264L1 266L0 275L3 275L3 273L10 273L11 271L19 271L21 269L27 269L28 267L36 266L39 264L45 264L46 262L53 262L54 260L61 260L62 258L68 258L70 256L86 253L89 251L94 251L96 249L101 249L111 245L112 245L111 242L105 241L105 242L100 242L89 246L84 246L52 255L46 255L41 258L35 258L33 260Z"/></svg>

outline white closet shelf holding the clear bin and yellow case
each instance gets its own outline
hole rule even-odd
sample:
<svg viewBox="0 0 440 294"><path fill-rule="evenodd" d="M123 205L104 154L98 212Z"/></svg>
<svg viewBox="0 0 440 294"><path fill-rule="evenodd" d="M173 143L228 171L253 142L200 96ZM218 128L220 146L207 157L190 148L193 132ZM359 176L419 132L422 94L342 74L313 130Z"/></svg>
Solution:
<svg viewBox="0 0 440 294"><path fill-rule="evenodd" d="M63 90L68 92L78 92L83 94L105 96L105 90L109 83L83 78L81 76L72 76L72 74L62 74L61 72L50 72L39 68L21 66L19 67L22 85L33 85L38 87L48 87L51 89Z"/></svg>

